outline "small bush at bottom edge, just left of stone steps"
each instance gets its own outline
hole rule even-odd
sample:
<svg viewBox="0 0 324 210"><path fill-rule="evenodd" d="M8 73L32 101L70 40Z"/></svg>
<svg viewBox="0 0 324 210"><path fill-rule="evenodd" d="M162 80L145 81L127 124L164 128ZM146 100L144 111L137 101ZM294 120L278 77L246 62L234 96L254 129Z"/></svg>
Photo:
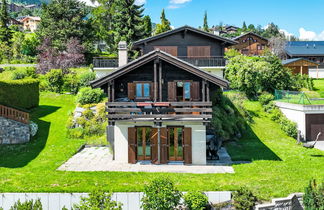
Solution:
<svg viewBox="0 0 324 210"><path fill-rule="evenodd" d="M249 189L240 188L233 192L233 201L235 209L248 210L254 208L258 199Z"/></svg>

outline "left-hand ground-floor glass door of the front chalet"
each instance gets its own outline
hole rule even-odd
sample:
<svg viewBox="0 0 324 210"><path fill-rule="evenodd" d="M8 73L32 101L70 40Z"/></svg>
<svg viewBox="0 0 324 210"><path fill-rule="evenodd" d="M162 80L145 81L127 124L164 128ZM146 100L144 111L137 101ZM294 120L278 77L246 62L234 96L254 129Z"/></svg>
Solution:
<svg viewBox="0 0 324 210"><path fill-rule="evenodd" d="M150 127L137 127L137 160L151 160L151 131Z"/></svg>

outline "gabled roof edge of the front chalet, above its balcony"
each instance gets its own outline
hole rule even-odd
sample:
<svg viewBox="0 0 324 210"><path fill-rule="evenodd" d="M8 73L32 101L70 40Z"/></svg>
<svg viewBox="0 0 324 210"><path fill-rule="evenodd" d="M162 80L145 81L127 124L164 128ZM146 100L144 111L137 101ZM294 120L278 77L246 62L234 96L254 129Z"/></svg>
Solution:
<svg viewBox="0 0 324 210"><path fill-rule="evenodd" d="M199 69L198 67L196 67L188 62L185 62L183 60L180 60L180 59L178 59L164 51L154 50L154 51L151 51L151 52L143 55L142 57L140 57L136 60L129 62L128 64L126 64L124 66L119 67L118 69L111 72L107 76L92 81L91 86L94 88L100 87L100 86L106 84L107 82L114 80L118 77L121 77L122 75L124 75L132 70L135 70L135 69L137 69L137 68L145 65L146 63L151 62L157 58L161 59L162 61L165 61L169 64L177 66L185 71L188 71L198 77L206 79L207 81L214 83L216 85L219 85L221 87L228 87L228 85L229 85L229 82L223 78L220 78L213 74L207 73L207 72Z"/></svg>

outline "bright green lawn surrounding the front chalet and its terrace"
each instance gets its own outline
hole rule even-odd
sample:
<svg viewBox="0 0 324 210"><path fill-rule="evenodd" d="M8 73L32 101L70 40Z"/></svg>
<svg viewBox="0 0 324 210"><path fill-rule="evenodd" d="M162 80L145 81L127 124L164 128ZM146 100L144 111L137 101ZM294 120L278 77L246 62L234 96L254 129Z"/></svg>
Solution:
<svg viewBox="0 0 324 210"><path fill-rule="evenodd" d="M142 191L156 177L170 177L179 190L235 190L251 188L263 199L301 192L311 178L324 177L324 152L307 150L287 137L258 102L246 102L254 124L238 143L227 148L235 174L170 174L126 172L61 172L56 169L84 144L66 138L65 122L74 109L74 96L42 93L32 112L39 133L24 145L0 146L1 192L87 192L96 185L110 191Z"/></svg>

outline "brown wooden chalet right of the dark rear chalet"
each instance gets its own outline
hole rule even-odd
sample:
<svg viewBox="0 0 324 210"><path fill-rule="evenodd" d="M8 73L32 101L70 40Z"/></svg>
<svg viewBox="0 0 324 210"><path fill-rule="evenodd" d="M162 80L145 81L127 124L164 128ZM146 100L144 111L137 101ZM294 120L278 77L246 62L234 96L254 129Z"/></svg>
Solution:
<svg viewBox="0 0 324 210"><path fill-rule="evenodd" d="M235 37L233 40L237 41L238 44L231 48L238 50L243 55L261 55L264 49L268 46L268 39L253 33L248 32Z"/></svg>

